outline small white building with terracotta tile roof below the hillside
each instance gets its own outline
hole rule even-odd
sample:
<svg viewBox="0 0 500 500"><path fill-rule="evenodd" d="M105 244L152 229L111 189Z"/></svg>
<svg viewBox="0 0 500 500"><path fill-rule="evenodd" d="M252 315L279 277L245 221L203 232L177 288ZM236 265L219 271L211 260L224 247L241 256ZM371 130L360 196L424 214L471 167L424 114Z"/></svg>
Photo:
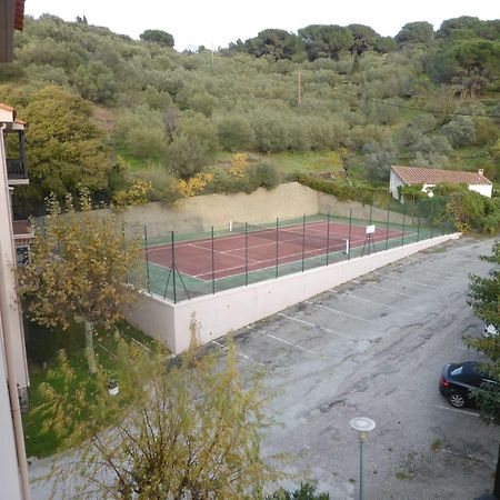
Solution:
<svg viewBox="0 0 500 500"><path fill-rule="evenodd" d="M432 192L436 184L466 184L470 191L491 198L492 182L483 174L483 170L464 172L462 170L443 170L419 167L391 167L389 189L393 198L399 200L400 186L422 184L422 191Z"/></svg>

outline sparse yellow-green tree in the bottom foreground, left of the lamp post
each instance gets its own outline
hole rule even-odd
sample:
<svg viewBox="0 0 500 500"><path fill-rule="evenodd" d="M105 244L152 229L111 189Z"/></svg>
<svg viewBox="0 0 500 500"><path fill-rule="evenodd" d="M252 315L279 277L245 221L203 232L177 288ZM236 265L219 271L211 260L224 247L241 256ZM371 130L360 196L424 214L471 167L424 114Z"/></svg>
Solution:
<svg viewBox="0 0 500 500"><path fill-rule="evenodd" d="M90 381L74 376L62 354L39 410L66 446L78 446L74 461L52 471L64 498L250 500L281 477L261 457L272 421L260 376L243 388L231 343L224 359L191 349L167 361L120 340L112 372L100 368ZM108 394L110 377L116 397Z"/></svg>

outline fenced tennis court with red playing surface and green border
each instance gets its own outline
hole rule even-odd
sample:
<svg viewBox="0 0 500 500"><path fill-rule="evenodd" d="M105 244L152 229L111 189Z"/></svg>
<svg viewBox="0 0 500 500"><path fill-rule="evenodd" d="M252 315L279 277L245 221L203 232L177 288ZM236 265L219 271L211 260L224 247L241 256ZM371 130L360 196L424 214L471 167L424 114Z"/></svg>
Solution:
<svg viewBox="0 0 500 500"><path fill-rule="evenodd" d="M350 213L350 212L349 212ZM379 213L380 217L380 213ZM303 216L260 226L227 221L196 233L161 222L127 228L142 233L142 276L148 292L174 303L222 290L329 266L449 232L444 222L387 210L373 220L334 214ZM371 229L369 229L371 228Z"/></svg>

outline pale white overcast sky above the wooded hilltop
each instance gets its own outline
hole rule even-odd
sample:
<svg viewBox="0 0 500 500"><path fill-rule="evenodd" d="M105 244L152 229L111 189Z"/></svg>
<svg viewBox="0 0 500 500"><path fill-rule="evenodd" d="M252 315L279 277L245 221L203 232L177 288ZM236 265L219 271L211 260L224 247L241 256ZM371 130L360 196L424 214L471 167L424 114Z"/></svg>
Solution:
<svg viewBox="0 0 500 500"><path fill-rule="evenodd" d="M176 49L228 47L267 28L297 32L309 24L367 24L382 36L398 33L407 22L428 21L438 29L444 19L474 16L500 18L498 0L26 0L24 12L48 12L67 21L86 16L134 39L147 29L169 32Z"/></svg>

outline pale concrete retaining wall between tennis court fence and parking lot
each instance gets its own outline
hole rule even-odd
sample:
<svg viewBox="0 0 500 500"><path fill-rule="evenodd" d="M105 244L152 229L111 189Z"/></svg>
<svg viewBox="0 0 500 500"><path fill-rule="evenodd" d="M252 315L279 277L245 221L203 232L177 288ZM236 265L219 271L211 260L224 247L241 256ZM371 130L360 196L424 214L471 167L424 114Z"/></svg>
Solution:
<svg viewBox="0 0 500 500"><path fill-rule="evenodd" d="M203 344L332 287L458 237L459 234L447 234L178 304L143 296L129 314L129 320L146 333L162 341L172 352L179 353L189 347L190 326L193 321L197 322L198 340Z"/></svg>

